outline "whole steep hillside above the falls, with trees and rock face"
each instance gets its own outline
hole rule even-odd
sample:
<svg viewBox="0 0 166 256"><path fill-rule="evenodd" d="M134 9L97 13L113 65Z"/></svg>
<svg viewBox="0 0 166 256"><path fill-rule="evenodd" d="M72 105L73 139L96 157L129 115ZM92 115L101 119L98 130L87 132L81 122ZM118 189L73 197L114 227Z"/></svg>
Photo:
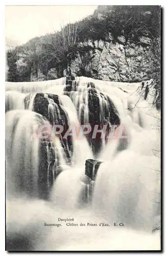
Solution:
<svg viewBox="0 0 166 256"><path fill-rule="evenodd" d="M110 81L157 76L158 83L159 38L159 6L99 6L80 22L8 52L8 81L57 79L67 69L74 76Z"/></svg>

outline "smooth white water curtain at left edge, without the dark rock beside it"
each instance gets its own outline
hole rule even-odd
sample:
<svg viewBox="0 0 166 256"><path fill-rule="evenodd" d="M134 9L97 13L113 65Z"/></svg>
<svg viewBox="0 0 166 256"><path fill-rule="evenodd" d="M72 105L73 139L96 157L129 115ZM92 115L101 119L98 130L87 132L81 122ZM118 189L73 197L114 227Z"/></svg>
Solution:
<svg viewBox="0 0 166 256"><path fill-rule="evenodd" d="M36 127L44 118L36 113L16 110L6 114L7 197L23 193L38 195L39 141Z"/></svg>

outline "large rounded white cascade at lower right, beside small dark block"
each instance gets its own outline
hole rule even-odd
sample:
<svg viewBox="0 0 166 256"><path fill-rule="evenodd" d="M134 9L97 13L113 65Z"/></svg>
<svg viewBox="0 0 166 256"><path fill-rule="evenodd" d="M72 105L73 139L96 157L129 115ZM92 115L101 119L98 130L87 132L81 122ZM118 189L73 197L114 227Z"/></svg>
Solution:
<svg viewBox="0 0 166 256"><path fill-rule="evenodd" d="M123 151L99 167L93 206L114 222L149 229L153 226L159 197L159 160ZM158 184L158 185L156 185Z"/></svg>

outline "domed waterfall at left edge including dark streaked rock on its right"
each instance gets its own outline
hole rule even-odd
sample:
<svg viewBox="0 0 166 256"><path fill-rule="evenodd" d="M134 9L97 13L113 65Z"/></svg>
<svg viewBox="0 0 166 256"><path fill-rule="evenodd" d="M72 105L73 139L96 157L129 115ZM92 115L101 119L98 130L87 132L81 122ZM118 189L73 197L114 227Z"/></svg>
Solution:
<svg viewBox="0 0 166 256"><path fill-rule="evenodd" d="M59 138L50 141L51 124L46 131L49 133L48 139L40 139L39 129L42 125L48 125L46 118L29 110L8 111L6 114L6 179L9 198L25 195L47 199L54 176L65 165Z"/></svg>

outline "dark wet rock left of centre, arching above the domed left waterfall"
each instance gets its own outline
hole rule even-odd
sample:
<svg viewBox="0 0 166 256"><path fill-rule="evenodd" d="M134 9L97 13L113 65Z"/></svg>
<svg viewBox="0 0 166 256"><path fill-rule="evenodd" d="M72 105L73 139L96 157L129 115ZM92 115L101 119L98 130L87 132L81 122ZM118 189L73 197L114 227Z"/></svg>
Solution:
<svg viewBox="0 0 166 256"><path fill-rule="evenodd" d="M48 93L31 93L25 97L24 103L25 109L29 109L31 105L32 110L44 116L52 126L56 124L63 126L63 132L59 134L58 137L63 148L63 155L66 163L70 164L73 154L73 141L72 136L64 138L70 124L68 114L64 109L59 96ZM43 130L43 132L49 132L47 131L48 129L49 127L46 127L46 131ZM41 141L50 141L50 138L48 137L48 139L41 139Z"/></svg>

